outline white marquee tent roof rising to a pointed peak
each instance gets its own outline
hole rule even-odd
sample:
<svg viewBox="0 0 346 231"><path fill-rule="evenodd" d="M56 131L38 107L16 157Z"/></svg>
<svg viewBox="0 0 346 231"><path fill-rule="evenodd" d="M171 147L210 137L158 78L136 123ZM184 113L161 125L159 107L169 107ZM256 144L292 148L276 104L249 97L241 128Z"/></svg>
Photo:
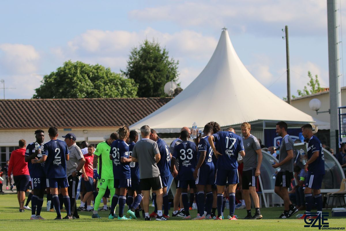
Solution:
<svg viewBox="0 0 346 231"><path fill-rule="evenodd" d="M275 106L275 113L267 110ZM179 95L130 126L149 125L161 133L180 132L193 122L220 126L242 122L286 121L311 123L310 115L287 104L258 82L240 61L224 29L207 66ZM275 126L274 126L275 127Z"/></svg>

